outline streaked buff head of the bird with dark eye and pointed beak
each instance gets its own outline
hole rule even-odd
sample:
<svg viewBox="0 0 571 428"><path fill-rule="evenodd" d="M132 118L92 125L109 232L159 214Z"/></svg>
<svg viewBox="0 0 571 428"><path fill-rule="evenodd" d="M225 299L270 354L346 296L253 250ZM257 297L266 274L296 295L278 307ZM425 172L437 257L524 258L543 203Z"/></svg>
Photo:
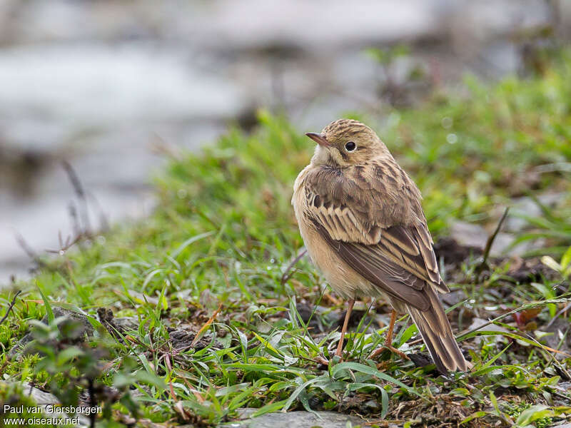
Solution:
<svg viewBox="0 0 571 428"><path fill-rule="evenodd" d="M352 119L339 119L325 126L320 133L308 132L305 135L318 143L311 159L313 165L346 167L390 156L375 131Z"/></svg>

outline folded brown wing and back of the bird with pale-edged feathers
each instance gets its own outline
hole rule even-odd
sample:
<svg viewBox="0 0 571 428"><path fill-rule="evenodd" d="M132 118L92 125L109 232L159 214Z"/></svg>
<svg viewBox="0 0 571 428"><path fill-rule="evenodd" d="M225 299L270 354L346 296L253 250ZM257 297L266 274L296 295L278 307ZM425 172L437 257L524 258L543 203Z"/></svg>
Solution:
<svg viewBox="0 0 571 428"><path fill-rule="evenodd" d="M316 168L305 180L305 197L306 215L328 245L387 294L426 310L427 283L448 291L420 192L396 163Z"/></svg>

